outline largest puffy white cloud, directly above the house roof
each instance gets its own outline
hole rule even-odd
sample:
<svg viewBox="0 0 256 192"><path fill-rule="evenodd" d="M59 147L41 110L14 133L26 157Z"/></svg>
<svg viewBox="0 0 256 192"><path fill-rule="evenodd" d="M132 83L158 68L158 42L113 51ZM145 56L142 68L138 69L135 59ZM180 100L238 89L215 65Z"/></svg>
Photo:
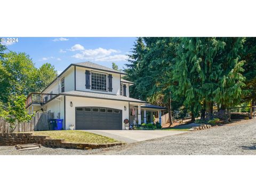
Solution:
<svg viewBox="0 0 256 192"><path fill-rule="evenodd" d="M103 49L99 47L98 49L88 49L83 50L81 53L77 53L73 55L72 57L77 59L90 59L90 60L97 60L103 57L107 57L112 53L118 53L119 51L114 49Z"/></svg>

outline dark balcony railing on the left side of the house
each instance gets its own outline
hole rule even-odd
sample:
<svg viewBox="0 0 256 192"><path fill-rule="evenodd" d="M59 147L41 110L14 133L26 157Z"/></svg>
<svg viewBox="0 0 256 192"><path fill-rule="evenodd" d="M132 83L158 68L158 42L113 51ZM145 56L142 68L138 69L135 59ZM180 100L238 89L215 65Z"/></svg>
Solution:
<svg viewBox="0 0 256 192"><path fill-rule="evenodd" d="M30 105L43 105L45 102L54 98L57 94L51 93L30 93L26 100L26 107Z"/></svg>

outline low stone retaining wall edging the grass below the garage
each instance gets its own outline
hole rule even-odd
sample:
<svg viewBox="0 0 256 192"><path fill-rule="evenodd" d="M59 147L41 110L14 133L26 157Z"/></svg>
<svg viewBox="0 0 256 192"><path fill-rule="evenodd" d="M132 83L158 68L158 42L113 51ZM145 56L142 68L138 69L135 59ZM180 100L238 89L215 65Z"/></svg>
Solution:
<svg viewBox="0 0 256 192"><path fill-rule="evenodd" d="M109 144L70 143L64 139L51 139L48 136L33 135L33 133L0 133L0 146L37 143L45 147L67 149L97 149L122 145L121 142Z"/></svg>

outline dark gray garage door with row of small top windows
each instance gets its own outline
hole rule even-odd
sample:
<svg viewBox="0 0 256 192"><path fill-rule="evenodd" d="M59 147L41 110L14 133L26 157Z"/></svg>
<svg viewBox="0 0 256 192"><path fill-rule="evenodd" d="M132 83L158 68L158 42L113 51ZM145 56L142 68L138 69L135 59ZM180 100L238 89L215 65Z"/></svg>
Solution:
<svg viewBox="0 0 256 192"><path fill-rule="evenodd" d="M76 107L76 130L122 130L122 110Z"/></svg>

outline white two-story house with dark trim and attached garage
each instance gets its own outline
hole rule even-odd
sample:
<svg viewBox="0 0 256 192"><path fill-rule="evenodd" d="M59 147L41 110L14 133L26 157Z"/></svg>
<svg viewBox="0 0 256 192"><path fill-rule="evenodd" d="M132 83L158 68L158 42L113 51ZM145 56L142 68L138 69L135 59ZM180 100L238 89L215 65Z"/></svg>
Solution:
<svg viewBox="0 0 256 192"><path fill-rule="evenodd" d="M153 122L153 114L159 114L161 123L166 108L130 98L133 83L124 80L125 75L92 62L71 64L41 93L29 94L27 110L54 112L66 130L70 125L76 130L124 130L130 124Z"/></svg>

